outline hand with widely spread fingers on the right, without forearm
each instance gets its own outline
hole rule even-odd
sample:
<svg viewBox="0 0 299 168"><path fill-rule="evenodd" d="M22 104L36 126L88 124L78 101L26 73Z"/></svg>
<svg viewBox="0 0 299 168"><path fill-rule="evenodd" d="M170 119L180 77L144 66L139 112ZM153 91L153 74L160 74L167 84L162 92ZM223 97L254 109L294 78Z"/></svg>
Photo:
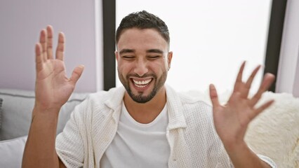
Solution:
<svg viewBox="0 0 299 168"><path fill-rule="evenodd" d="M220 105L216 89L214 85L210 85L215 130L226 148L244 144L244 136L248 124L273 102L269 101L259 107L255 106L263 92L265 92L274 81L274 76L271 73L265 74L258 92L256 92L252 98L248 98L251 83L258 69L260 69L260 66L253 70L246 82L243 82L242 74L244 66L245 62L241 65L236 83L234 84L234 91L225 106Z"/></svg>

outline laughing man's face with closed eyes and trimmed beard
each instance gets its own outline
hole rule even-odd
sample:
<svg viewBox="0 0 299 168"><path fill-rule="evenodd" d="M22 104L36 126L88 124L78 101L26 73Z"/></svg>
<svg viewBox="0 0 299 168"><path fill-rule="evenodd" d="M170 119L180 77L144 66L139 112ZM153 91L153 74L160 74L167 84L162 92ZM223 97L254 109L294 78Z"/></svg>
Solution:
<svg viewBox="0 0 299 168"><path fill-rule="evenodd" d="M135 102L150 101L164 86L172 52L157 30L124 30L115 55L119 80Z"/></svg>

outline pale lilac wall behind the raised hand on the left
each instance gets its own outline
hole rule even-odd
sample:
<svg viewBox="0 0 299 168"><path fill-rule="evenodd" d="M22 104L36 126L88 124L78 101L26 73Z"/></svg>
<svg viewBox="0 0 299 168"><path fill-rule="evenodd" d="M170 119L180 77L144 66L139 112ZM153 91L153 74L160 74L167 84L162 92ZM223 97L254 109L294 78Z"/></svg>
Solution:
<svg viewBox="0 0 299 168"><path fill-rule="evenodd" d="M57 43L58 31L66 36L67 75L70 76L78 64L86 67L75 91L100 90L102 83L98 79L102 79L102 73L96 69L102 69L99 62L102 44L96 43L95 36L101 38L102 35L96 34L101 27L95 20L100 22L102 13L95 10L95 3L98 0L0 1L0 87L34 90L34 45L39 40L39 31L53 25L53 46ZM96 12L100 15L95 15Z"/></svg>

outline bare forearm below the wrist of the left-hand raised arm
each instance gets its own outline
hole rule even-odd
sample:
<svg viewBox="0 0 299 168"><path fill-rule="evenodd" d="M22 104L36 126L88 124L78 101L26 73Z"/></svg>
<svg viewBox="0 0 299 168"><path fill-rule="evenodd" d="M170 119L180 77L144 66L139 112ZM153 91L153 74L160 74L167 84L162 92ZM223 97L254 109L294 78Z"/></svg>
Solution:
<svg viewBox="0 0 299 168"><path fill-rule="evenodd" d="M22 167L59 167L55 151L59 109L39 111L34 108Z"/></svg>

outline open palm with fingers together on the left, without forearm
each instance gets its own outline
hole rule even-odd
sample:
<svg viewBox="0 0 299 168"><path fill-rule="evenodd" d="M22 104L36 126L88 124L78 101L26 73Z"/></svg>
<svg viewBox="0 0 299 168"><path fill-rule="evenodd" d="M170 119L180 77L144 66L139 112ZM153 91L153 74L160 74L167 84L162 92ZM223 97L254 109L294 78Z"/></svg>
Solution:
<svg viewBox="0 0 299 168"><path fill-rule="evenodd" d="M56 57L53 57L53 28L41 30L39 43L35 45L36 54L36 86L35 107L41 110L60 109L72 94L77 80L84 71L84 66L77 66L72 76L67 78L65 63L65 35L58 35Z"/></svg>

